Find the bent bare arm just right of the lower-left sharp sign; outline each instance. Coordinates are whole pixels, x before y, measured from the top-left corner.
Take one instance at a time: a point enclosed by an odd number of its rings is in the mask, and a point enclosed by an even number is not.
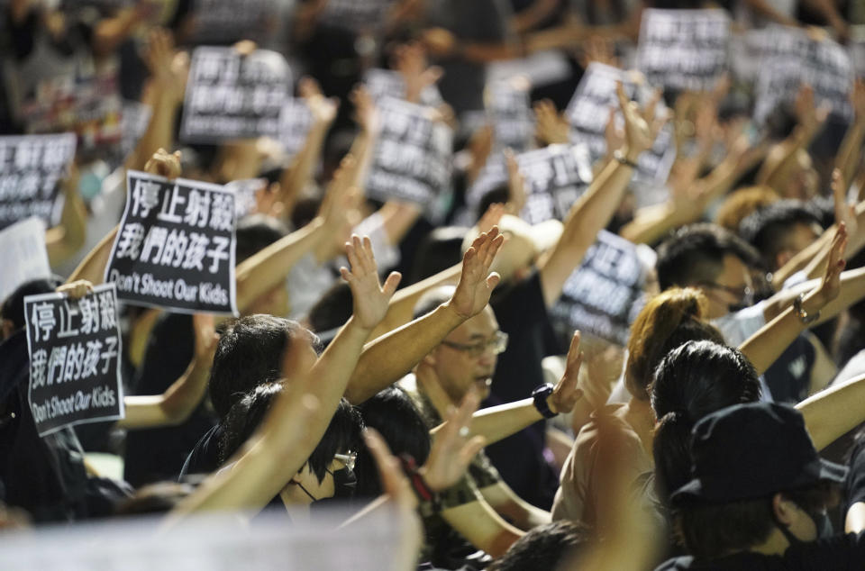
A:
[[[192,322],[196,334],[195,353],[187,370],[163,394],[124,396],[126,416],[117,422],[118,427],[143,429],[176,425],[186,421],[201,403],[207,391],[217,338],[213,315],[196,313]]]

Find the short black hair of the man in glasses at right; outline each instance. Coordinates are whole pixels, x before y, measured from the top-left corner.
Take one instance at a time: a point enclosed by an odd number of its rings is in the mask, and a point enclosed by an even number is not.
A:
[[[760,265],[757,250],[721,226],[704,222],[680,228],[658,246],[655,267],[661,291],[715,281],[727,255],[740,258],[747,266]]]

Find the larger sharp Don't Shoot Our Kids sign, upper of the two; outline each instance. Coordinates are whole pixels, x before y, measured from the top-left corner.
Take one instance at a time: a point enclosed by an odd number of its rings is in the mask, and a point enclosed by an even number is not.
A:
[[[105,281],[132,304],[236,315],[234,210],[223,186],[129,171]]]

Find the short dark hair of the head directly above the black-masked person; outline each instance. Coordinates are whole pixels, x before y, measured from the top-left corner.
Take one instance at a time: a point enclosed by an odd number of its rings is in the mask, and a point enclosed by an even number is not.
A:
[[[224,418],[243,394],[282,376],[282,357],[296,336],[308,334],[297,322],[273,315],[247,315],[230,322],[219,336],[210,369],[210,399]]]

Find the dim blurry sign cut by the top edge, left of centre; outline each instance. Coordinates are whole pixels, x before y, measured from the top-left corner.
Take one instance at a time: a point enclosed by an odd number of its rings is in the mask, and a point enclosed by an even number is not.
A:
[[[193,0],[193,44],[266,43],[277,30],[276,0]]]

